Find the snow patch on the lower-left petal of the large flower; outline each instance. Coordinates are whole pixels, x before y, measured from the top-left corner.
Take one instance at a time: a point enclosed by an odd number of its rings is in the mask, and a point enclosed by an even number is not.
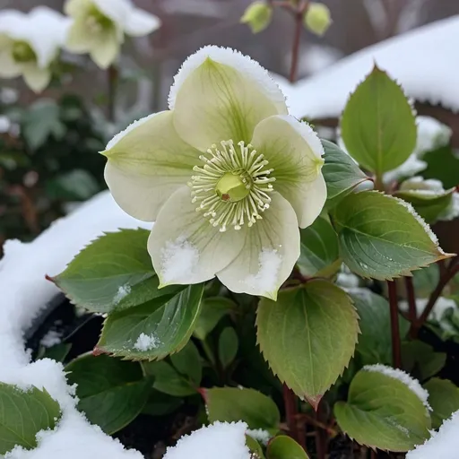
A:
[[[178,281],[189,275],[199,261],[199,251],[185,236],[169,240],[161,249],[161,281]]]

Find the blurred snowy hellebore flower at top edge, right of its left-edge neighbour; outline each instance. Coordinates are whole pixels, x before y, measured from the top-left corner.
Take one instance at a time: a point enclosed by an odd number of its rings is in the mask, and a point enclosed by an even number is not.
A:
[[[65,13],[72,19],[66,48],[90,53],[101,68],[117,59],[125,34],[143,37],[160,27],[160,20],[134,7],[130,0],[67,0]]]

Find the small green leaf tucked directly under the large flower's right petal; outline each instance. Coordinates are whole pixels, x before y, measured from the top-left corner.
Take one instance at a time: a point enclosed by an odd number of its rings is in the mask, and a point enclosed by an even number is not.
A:
[[[303,275],[326,277],[340,269],[338,237],[329,221],[319,217],[311,226],[300,230],[300,234],[298,265]]]

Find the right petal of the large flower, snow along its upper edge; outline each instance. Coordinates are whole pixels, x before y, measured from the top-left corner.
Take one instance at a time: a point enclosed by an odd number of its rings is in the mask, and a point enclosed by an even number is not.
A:
[[[299,227],[316,220],[326,200],[321,168],[324,147],[316,133],[296,118],[275,116],[255,127],[252,145],[273,169],[273,186],[297,213]]]

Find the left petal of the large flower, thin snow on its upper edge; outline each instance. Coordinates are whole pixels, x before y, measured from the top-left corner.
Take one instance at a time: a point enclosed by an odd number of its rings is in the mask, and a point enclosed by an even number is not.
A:
[[[129,215],[154,221],[160,207],[193,174],[199,152],[172,126],[172,113],[144,117],[107,145],[105,179],[117,204]]]

